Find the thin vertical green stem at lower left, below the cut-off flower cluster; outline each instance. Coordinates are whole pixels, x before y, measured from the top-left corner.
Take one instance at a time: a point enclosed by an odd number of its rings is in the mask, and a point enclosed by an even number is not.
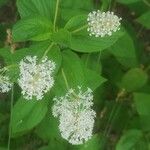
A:
[[[11,92],[10,122],[9,122],[9,136],[8,136],[8,148],[7,148],[8,150],[10,150],[13,101],[14,101],[14,85],[12,85],[12,92]]]

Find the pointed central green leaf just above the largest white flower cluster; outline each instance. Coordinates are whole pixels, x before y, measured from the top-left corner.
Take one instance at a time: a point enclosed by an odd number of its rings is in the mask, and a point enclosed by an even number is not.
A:
[[[56,81],[55,93],[64,94],[68,88],[91,88],[95,90],[106,81],[99,74],[85,68],[80,58],[70,50],[62,53],[62,68]]]

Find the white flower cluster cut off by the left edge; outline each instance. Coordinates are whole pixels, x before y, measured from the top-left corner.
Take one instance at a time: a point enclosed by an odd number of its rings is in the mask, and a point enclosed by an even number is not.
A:
[[[12,87],[9,77],[3,74],[5,71],[5,68],[0,69],[0,93],[8,92]]]

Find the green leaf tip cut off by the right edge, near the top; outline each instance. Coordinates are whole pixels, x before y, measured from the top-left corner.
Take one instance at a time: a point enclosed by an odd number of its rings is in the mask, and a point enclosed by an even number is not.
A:
[[[136,19],[137,22],[142,24],[147,29],[150,29],[150,11],[147,11],[146,13],[142,14],[139,18]]]

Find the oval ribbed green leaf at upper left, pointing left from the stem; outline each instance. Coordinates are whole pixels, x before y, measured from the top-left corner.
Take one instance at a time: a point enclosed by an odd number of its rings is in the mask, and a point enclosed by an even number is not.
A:
[[[20,41],[43,41],[50,39],[52,23],[41,16],[34,16],[18,21],[13,27],[13,40]]]

